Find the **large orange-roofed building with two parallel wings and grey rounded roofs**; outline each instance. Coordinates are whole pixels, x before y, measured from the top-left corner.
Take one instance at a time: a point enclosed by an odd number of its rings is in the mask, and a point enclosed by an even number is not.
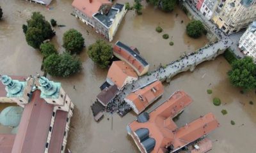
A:
[[[127,126],[127,132],[132,136],[142,153],[176,152],[192,142],[202,140],[205,135],[218,128],[219,123],[212,113],[178,128],[173,117],[178,115],[192,99],[183,91],[175,92],[162,105],[150,113],[144,112]],[[209,146],[209,141],[205,141]],[[198,146],[202,146],[200,144]],[[211,145],[210,145],[211,146]],[[199,148],[198,148],[199,149]],[[200,152],[206,152],[209,147]]]

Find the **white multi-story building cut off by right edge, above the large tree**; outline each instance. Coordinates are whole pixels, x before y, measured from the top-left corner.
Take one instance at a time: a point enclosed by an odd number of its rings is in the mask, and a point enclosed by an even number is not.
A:
[[[252,22],[239,40],[239,48],[256,61],[256,21]]]

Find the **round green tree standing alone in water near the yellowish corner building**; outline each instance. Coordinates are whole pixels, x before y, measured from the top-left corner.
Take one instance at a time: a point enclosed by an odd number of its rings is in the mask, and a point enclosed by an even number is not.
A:
[[[204,31],[204,25],[200,20],[193,20],[186,27],[186,33],[192,38],[199,38]]]

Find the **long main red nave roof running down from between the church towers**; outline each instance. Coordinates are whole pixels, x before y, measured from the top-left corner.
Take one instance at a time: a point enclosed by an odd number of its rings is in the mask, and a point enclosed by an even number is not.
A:
[[[40,98],[41,91],[33,92],[25,105],[12,153],[43,153],[51,124],[54,105]]]

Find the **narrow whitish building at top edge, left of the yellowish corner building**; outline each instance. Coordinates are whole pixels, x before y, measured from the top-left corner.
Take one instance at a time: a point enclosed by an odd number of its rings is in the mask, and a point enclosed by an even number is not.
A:
[[[216,10],[218,1],[216,0],[204,0],[200,11],[203,13],[207,20],[211,20],[213,12]]]

